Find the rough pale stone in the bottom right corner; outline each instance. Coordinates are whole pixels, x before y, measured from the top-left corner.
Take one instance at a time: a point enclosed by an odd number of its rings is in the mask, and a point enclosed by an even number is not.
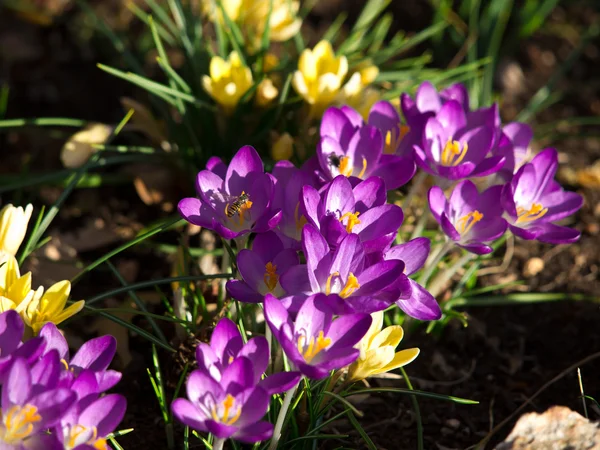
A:
[[[600,450],[600,425],[564,406],[519,419],[496,450]]]

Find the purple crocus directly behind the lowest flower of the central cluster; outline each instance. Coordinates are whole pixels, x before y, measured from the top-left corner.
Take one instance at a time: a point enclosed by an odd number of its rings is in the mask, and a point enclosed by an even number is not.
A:
[[[225,370],[240,357],[252,362],[254,385],[260,386],[270,395],[287,391],[300,380],[297,372],[279,372],[261,379],[270,359],[267,340],[263,336],[255,336],[244,344],[238,327],[228,318],[219,321],[210,344],[199,342],[196,347],[198,370],[207,373],[217,382],[221,382]]]

